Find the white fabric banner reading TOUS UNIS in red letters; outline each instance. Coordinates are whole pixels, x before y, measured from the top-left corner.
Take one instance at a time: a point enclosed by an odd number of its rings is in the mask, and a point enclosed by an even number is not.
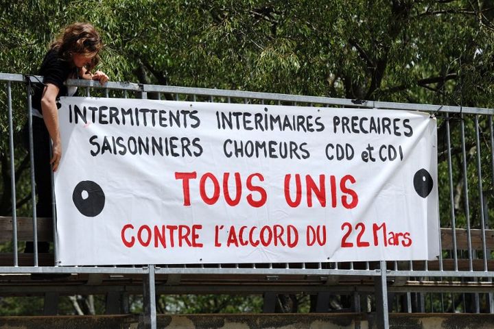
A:
[[[59,265],[425,260],[436,120],[62,97]]]

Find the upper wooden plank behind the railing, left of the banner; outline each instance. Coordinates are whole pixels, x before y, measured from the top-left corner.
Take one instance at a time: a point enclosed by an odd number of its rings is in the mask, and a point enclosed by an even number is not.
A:
[[[38,241],[53,241],[53,221],[51,218],[39,217]],[[12,217],[0,217],[0,243],[10,242],[13,237]],[[17,217],[17,241],[33,241],[31,217]]]

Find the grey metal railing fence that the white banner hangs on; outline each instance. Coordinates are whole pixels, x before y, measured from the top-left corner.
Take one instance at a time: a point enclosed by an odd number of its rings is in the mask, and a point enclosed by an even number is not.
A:
[[[150,98],[176,101],[209,101],[226,103],[262,103],[287,106],[319,106],[430,112],[438,119],[438,172],[440,191],[440,227],[442,253],[438,260],[421,262],[353,262],[353,263],[286,263],[286,264],[217,264],[217,265],[134,265],[132,267],[60,267],[42,266],[36,248],[38,219],[32,209],[32,234],[34,260],[30,266],[19,265],[19,241],[16,184],[14,173],[17,145],[14,144],[15,127],[25,119],[31,124],[31,91],[43,77],[0,73],[3,93],[0,94],[1,120],[8,123],[8,143],[3,134],[2,146],[9,159],[10,186],[12,191],[12,266],[0,266],[0,273],[106,273],[121,276],[140,275],[145,278],[143,293],[146,301],[147,321],[156,328],[154,304],[155,278],[166,275],[235,275],[263,276],[266,280],[283,281],[286,276],[305,278],[297,285],[277,287],[250,284],[242,289],[254,289],[259,293],[342,293],[353,296],[353,310],[370,310],[366,296],[375,293],[375,308],[383,328],[388,327],[388,311],[391,312],[473,312],[494,313],[493,276],[491,260],[494,249],[494,212],[489,204],[494,202],[494,132],[493,109],[461,106],[438,106],[384,101],[362,101],[252,93],[239,90],[217,90],[108,82],[104,88],[99,82],[69,80],[67,85],[78,86],[79,95],[93,97]],[[17,98],[12,96],[17,95]],[[19,98],[20,97],[20,98]],[[30,134],[32,136],[32,133]],[[30,141],[30,177],[32,194],[30,203],[36,204],[34,193],[34,169],[32,164],[32,137]],[[5,166],[5,162],[2,164]],[[5,171],[5,168],[2,168]],[[5,188],[8,182],[3,182]],[[5,214],[0,214],[5,215]],[[56,218],[53,219],[54,223]],[[56,226],[53,225],[54,234]],[[55,240],[56,241],[56,240]],[[54,245],[54,253],[57,246]],[[1,254],[1,253],[0,253]],[[320,283],[314,287],[311,281]],[[365,280],[369,279],[370,284]],[[305,280],[305,281],[304,281]],[[346,282],[346,284],[341,284]],[[338,284],[340,283],[340,284]],[[177,284],[180,286],[180,284]],[[195,286],[195,289],[198,289]],[[292,287],[292,288],[290,288]],[[331,287],[331,289],[329,289]],[[215,289],[209,289],[214,291]],[[193,289],[180,292],[194,293]],[[228,293],[226,288],[219,290]],[[159,291],[158,291],[159,293]]]

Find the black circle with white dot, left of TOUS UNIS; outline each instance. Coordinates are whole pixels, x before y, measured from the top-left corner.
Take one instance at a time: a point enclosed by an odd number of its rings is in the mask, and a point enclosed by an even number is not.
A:
[[[101,186],[91,180],[83,180],[75,186],[72,201],[82,215],[95,217],[103,211],[105,195]]]

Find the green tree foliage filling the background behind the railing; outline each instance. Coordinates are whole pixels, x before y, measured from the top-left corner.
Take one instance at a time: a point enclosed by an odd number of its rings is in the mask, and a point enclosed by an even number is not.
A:
[[[99,69],[116,81],[494,108],[491,0],[0,0],[0,72],[36,74],[50,42],[74,21],[89,21],[102,33]],[[21,145],[25,88],[14,86],[13,93]],[[1,88],[3,109],[5,102]],[[2,136],[8,136],[6,112],[0,111]],[[472,117],[460,119],[438,119],[441,221],[448,226],[453,219],[449,151],[456,225],[467,222],[467,177],[470,221],[478,228],[475,125]],[[489,124],[480,118],[484,177],[493,175]],[[23,206],[30,186],[19,146],[16,158]],[[8,140],[1,138],[0,215],[11,212],[8,161]],[[493,180],[482,183],[493,204]]]

